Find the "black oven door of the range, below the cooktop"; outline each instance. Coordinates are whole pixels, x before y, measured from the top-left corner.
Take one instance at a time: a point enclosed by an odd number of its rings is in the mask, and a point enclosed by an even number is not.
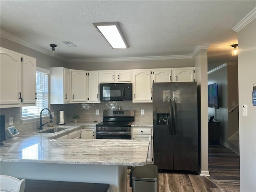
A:
[[[132,139],[130,131],[117,132],[117,131],[96,131],[96,139]]]

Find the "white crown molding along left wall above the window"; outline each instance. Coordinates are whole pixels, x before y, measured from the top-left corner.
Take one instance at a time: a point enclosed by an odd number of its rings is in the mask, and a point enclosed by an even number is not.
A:
[[[24,41],[24,40],[22,40],[22,39],[20,39],[20,38],[18,38],[18,37],[16,37],[16,36],[12,35],[12,34],[9,34],[9,33],[7,33],[7,32],[4,32],[4,31],[2,31],[2,30],[0,30],[0,36],[1,36],[2,38],[8,39],[8,40],[10,40],[10,41],[12,41],[12,42],[18,43],[18,44],[20,44],[20,45],[26,46],[26,47],[28,47],[28,48],[31,48],[31,49],[33,49],[33,50],[36,50],[36,51],[38,51],[38,52],[41,52],[41,53],[43,53],[43,54],[46,54],[46,55],[51,56],[51,55],[50,55],[50,50],[46,50],[46,49],[44,49],[44,48],[42,48],[42,47],[39,47],[39,46],[37,46],[37,45],[34,45],[34,44],[32,44],[32,43],[26,42],[26,41]],[[68,62],[68,59],[63,58],[62,56],[58,56],[58,55],[57,55],[57,56],[54,56],[54,58],[56,58],[56,59],[58,59],[58,60],[62,60],[62,61],[64,61],[64,62]]]

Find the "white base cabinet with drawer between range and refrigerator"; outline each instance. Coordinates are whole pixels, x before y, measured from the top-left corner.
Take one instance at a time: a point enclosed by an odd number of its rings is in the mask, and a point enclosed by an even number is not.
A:
[[[146,140],[149,141],[148,148],[148,159],[147,162],[153,163],[153,136],[152,136],[152,128],[132,128],[132,139],[134,140]]]

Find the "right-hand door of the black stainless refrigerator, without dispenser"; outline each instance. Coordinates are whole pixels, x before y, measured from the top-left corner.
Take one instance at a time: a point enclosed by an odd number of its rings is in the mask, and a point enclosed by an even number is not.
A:
[[[172,83],[174,170],[198,171],[197,83]]]

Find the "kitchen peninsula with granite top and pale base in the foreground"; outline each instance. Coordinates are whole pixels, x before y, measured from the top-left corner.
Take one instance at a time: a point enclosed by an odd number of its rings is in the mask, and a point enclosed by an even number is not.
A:
[[[30,135],[0,147],[1,174],[23,179],[110,184],[110,192],[127,190],[127,166],[143,166],[148,141],[58,140]]]

